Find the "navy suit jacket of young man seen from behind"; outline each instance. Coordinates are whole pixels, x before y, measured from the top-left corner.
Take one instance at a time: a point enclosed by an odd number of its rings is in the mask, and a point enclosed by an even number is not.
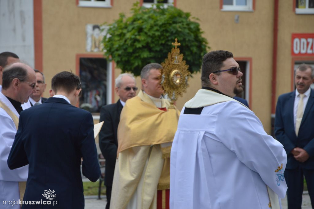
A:
[[[22,208],[84,208],[81,158],[84,176],[92,182],[100,176],[93,129],[88,111],[61,98],[51,97],[21,112],[8,166],[29,164],[24,201],[48,201],[42,195],[45,189],[54,190],[58,200],[57,207],[24,204]]]

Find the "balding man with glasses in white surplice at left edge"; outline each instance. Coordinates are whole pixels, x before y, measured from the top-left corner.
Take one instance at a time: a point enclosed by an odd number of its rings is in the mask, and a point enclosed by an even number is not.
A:
[[[35,93],[35,83],[35,71],[23,63],[14,63],[3,71],[0,93],[0,204],[23,198],[28,166],[10,170],[7,160],[18,129],[21,104]],[[6,206],[0,206],[3,207]],[[9,207],[20,208],[19,205]]]

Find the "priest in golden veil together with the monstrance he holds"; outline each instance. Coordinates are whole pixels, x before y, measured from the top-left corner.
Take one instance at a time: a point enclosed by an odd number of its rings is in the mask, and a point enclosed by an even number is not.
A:
[[[165,63],[143,67],[143,89],[122,109],[112,209],[169,208],[170,151],[179,118],[173,102],[185,91],[189,78],[179,43],[173,45]],[[171,102],[163,98],[164,93]]]

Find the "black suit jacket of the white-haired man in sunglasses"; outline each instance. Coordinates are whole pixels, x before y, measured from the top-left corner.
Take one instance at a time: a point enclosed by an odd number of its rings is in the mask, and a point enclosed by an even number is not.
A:
[[[106,159],[105,185],[112,186],[118,148],[117,130],[123,106],[120,99],[115,104],[100,109],[100,122],[104,121],[99,133],[99,147]]]

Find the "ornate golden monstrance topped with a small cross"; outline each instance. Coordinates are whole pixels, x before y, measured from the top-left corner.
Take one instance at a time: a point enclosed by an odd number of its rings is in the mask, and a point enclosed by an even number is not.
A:
[[[164,88],[165,93],[168,94],[170,98],[169,108],[174,108],[173,103],[182,96],[183,93],[187,92],[187,87],[189,87],[188,81],[190,79],[190,71],[188,71],[189,66],[186,65],[185,60],[183,60],[183,54],[180,54],[181,43],[178,43],[178,39],[172,43],[175,48],[171,49],[171,53],[168,53],[168,58],[165,62],[161,63],[163,69],[161,70],[161,86]]]

